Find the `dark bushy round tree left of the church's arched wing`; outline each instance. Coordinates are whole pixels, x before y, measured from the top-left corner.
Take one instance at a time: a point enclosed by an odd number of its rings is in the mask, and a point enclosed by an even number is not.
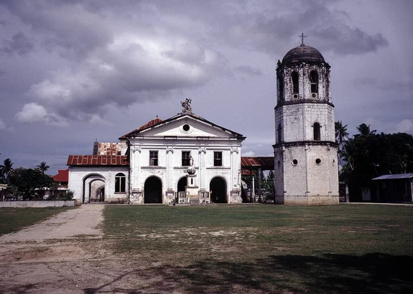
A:
[[[54,185],[52,176],[43,174],[40,169],[25,169],[24,167],[11,171],[9,182],[12,193],[23,200],[33,200],[39,191]]]

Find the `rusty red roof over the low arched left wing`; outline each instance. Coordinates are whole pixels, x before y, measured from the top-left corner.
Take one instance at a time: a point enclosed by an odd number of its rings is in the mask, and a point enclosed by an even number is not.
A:
[[[67,158],[67,165],[124,166],[129,165],[129,160],[125,155],[70,155]]]

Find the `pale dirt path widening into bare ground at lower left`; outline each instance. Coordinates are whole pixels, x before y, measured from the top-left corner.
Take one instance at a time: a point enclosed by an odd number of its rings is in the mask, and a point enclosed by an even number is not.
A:
[[[117,293],[114,287],[127,289],[129,267],[103,245],[99,229],[103,208],[82,205],[1,236],[0,293]]]

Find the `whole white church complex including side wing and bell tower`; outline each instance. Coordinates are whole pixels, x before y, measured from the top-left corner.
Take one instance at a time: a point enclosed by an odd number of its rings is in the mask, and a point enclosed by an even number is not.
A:
[[[93,155],[69,156],[68,189],[74,198],[81,203],[240,203],[242,168],[251,175],[256,168],[261,175],[273,162],[276,204],[339,203],[330,65],[304,45],[304,34],[301,45],[277,63],[273,158],[242,161],[244,136],[193,114],[191,99],[181,104],[180,114],[156,117],[118,143],[96,142]]]

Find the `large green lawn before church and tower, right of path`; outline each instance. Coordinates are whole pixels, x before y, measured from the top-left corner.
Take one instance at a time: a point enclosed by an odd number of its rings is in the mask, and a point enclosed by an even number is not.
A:
[[[103,229],[182,292],[413,292],[413,207],[107,206]]]

